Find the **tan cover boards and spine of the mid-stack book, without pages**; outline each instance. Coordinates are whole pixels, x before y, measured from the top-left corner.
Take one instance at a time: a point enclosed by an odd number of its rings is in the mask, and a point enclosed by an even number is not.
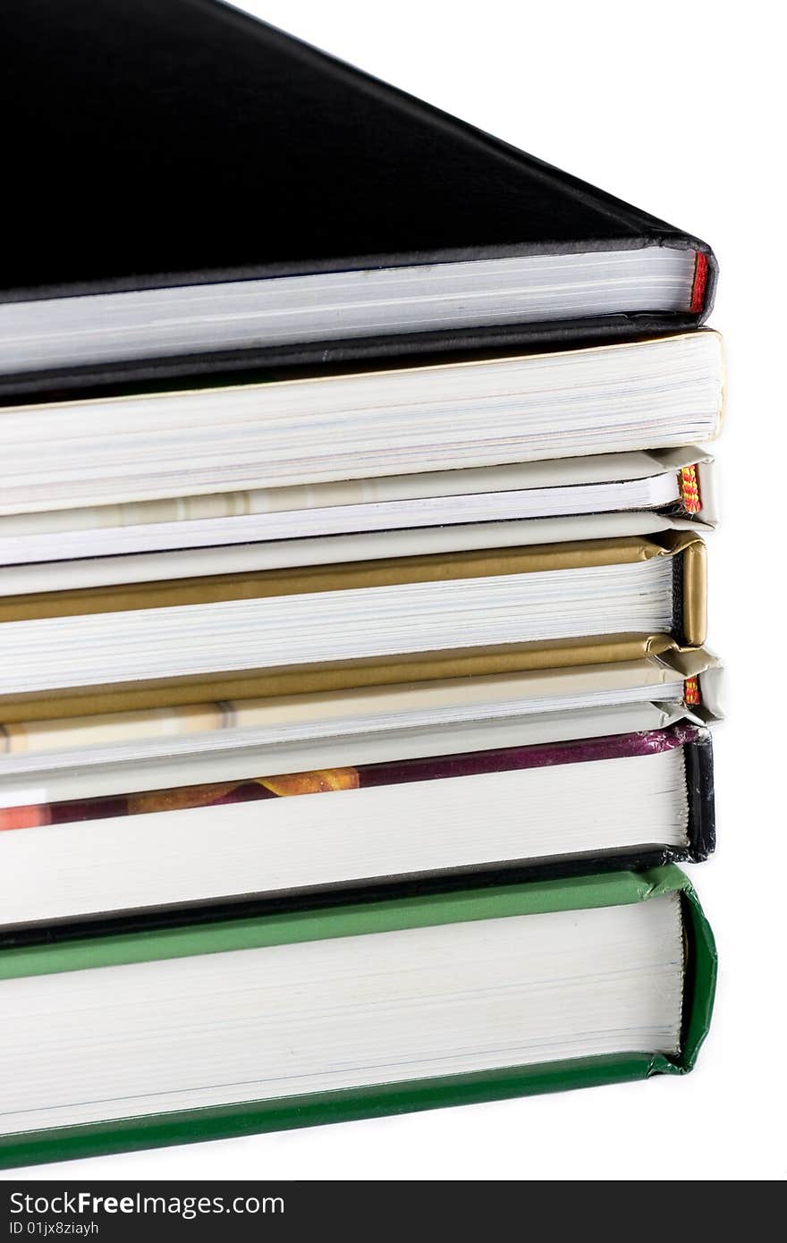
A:
[[[351,686],[384,686],[397,682],[446,677],[486,676],[530,669],[569,667],[637,660],[654,645],[678,643],[695,648],[705,641],[705,546],[689,532],[665,532],[658,538],[620,538],[583,543],[542,544],[533,548],[453,553],[445,557],[392,558],[356,562],[341,567],[283,569],[259,574],[216,576],[139,587],[24,595],[0,602],[1,623],[52,617],[80,617],[149,608],[188,607],[220,600],[296,595],[311,592],[374,588],[413,582],[455,580],[486,576],[617,566],[654,557],[675,557],[680,576],[676,633],[671,635],[617,634],[593,638],[530,641],[504,646],[415,653],[307,666],[278,666],[242,672],[159,679],[155,681],[91,686],[81,691],[61,689],[4,697],[5,723],[173,707],[208,701],[272,697],[343,690]]]

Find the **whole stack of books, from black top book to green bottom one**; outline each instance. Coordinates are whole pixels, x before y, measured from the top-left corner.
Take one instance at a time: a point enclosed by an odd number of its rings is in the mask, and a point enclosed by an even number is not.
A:
[[[81,12],[22,10],[1,87],[51,106],[0,305],[0,1158],[690,1069],[711,251],[221,5]]]

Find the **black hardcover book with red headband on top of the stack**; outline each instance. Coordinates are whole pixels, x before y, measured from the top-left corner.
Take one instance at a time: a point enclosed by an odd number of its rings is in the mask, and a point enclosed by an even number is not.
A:
[[[696,237],[229,6],[117,0],[107,22],[82,0],[47,35],[11,4],[6,392],[707,314]],[[52,185],[70,194],[42,231]],[[96,229],[98,205],[133,226]]]

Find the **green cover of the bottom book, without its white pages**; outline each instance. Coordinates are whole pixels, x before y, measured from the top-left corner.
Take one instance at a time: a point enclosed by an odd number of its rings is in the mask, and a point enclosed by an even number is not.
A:
[[[633,1052],[9,1135],[0,1139],[0,1168],[684,1074],[694,1065],[710,1025],[716,950],[691,883],[670,865],[0,952],[0,979],[10,979],[506,915],[623,906],[669,892],[683,895],[686,930],[683,1040],[676,1058]]]

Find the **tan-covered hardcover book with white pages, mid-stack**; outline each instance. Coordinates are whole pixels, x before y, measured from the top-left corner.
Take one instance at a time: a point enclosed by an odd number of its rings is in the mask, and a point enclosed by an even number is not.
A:
[[[0,712],[235,699],[239,675],[249,697],[637,659],[655,636],[701,645],[705,608],[690,532],[16,595]]]

